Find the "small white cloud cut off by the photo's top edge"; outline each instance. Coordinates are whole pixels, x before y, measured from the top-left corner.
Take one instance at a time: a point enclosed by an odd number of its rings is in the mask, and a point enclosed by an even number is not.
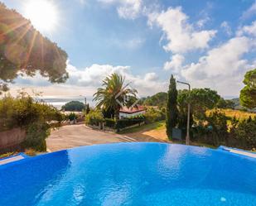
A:
[[[105,4],[117,4],[119,17],[135,19],[142,12],[142,0],[98,0]]]

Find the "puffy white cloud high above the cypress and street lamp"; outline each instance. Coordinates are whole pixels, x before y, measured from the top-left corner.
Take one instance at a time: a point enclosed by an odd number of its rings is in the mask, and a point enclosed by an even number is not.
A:
[[[148,24],[157,23],[167,39],[163,48],[172,53],[186,53],[191,50],[208,48],[209,41],[215,36],[215,30],[197,31],[189,24],[189,17],[181,11],[181,7],[168,8],[161,13],[148,15]]]

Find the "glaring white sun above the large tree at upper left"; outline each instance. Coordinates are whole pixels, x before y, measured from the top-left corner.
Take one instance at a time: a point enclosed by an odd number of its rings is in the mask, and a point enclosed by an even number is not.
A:
[[[39,31],[53,31],[58,22],[56,6],[50,0],[29,0],[24,5],[24,16]]]

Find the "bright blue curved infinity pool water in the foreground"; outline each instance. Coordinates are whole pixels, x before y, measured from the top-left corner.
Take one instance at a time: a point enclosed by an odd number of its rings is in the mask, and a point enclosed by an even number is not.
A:
[[[0,166],[0,205],[256,205],[256,159],[196,146],[84,146]]]

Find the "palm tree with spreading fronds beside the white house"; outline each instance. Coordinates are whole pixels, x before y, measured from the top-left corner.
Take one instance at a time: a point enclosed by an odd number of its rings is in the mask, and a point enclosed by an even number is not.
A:
[[[131,106],[131,99],[136,98],[136,89],[128,88],[124,85],[125,78],[117,73],[111,74],[103,80],[102,88],[94,93],[94,100],[97,108],[105,110],[114,109],[114,117],[119,118],[119,110],[124,106]]]

